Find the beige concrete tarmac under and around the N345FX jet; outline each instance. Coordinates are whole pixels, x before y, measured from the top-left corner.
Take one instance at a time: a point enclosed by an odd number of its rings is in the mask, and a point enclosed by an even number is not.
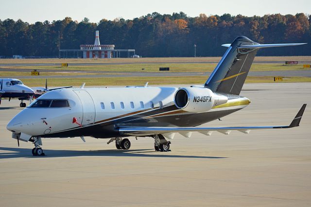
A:
[[[311,83],[245,84],[246,108],[204,126],[289,124],[307,104],[299,127],[176,135],[172,152],[152,138],[130,138],[128,151],[108,139],[11,138],[6,124],[18,100],[0,105],[0,206],[311,206]],[[104,132],[103,132],[104,133]]]

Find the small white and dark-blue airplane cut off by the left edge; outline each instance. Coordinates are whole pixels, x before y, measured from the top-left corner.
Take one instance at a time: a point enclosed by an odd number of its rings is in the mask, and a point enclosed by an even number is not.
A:
[[[57,87],[57,88],[48,88],[48,81],[45,80],[45,88],[44,87],[33,87],[30,88],[26,85],[24,85],[20,80],[13,79],[13,78],[3,78],[0,79],[0,104],[1,104],[1,98],[9,98],[9,101],[11,98],[18,98],[18,100],[21,100],[21,103],[19,104],[20,107],[26,107],[26,103],[24,103],[24,100],[30,101],[32,103],[32,100],[34,98],[37,98],[41,96],[42,94],[49,92],[51,90],[56,90],[60,88],[69,88],[72,86],[64,86],[64,87]]]

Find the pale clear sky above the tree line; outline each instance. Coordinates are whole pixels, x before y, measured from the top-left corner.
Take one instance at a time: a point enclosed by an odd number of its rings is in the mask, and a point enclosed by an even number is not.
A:
[[[184,12],[190,17],[209,15],[263,16],[305,13],[311,15],[311,0],[0,0],[0,19],[21,19],[28,23],[62,20],[71,17],[80,22],[105,18],[133,19],[153,12],[173,14]]]

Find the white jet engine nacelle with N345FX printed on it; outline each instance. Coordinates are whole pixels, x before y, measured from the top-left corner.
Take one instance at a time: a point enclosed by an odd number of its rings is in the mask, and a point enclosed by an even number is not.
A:
[[[206,112],[213,106],[225,104],[228,97],[213,93],[205,87],[179,88],[174,96],[177,108],[187,112]]]

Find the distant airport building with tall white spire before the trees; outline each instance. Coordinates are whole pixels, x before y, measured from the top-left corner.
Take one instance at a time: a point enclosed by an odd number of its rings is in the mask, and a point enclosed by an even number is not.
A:
[[[118,58],[133,55],[134,49],[116,50],[115,45],[101,45],[99,31],[95,32],[94,45],[80,45],[80,50],[59,50],[60,58]]]

